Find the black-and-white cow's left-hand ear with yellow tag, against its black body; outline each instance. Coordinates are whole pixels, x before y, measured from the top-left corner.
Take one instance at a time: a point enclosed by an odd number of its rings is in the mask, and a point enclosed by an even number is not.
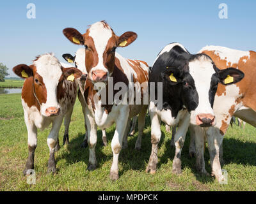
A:
[[[161,78],[164,82],[168,82],[170,85],[177,85],[183,81],[182,73],[178,68],[166,67],[161,73]]]

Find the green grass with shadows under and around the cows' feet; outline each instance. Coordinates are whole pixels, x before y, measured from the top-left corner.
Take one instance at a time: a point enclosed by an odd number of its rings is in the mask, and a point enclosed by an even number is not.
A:
[[[35,152],[36,184],[26,183],[22,175],[28,156],[27,131],[24,124],[20,94],[0,96],[0,190],[1,191],[255,191],[256,190],[256,135],[255,128],[246,124],[244,129],[229,128],[223,140],[223,168],[228,171],[228,184],[220,185],[214,178],[199,175],[195,158],[188,156],[189,135],[182,150],[182,174],[172,174],[174,150],[170,147],[170,134],[161,129],[159,164],[156,175],[145,173],[150,156],[150,120],[144,129],[142,149],[134,150],[138,133],[128,138],[128,149],[119,157],[120,179],[112,182],[109,170],[112,162],[111,138],[114,127],[107,129],[108,146],[102,147],[98,131],[98,168],[86,170],[89,150],[81,149],[83,141],[83,113],[77,99],[70,123],[70,145],[63,147],[64,127],[60,130],[61,149],[56,152],[56,175],[47,175],[49,149],[47,135],[38,131]],[[205,168],[211,172],[209,153],[205,150]]]

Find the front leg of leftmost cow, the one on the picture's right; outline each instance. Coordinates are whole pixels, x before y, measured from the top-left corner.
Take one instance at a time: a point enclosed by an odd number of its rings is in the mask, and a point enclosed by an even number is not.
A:
[[[56,163],[55,163],[54,152],[55,152],[56,143],[58,141],[58,133],[60,131],[62,121],[63,121],[63,117],[59,117],[53,120],[52,129],[47,138],[47,145],[50,150],[47,173],[56,173]]]

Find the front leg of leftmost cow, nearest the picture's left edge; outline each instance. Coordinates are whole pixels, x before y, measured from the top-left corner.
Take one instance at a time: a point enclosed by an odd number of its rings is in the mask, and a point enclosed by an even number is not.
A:
[[[34,123],[29,122],[28,115],[24,114],[26,127],[28,130],[28,159],[23,174],[26,175],[27,171],[34,169],[35,149],[37,146],[37,128]]]

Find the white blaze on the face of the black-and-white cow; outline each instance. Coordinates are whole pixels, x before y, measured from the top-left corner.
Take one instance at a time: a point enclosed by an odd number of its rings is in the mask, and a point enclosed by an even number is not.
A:
[[[191,111],[191,123],[196,124],[198,114],[211,114],[214,112],[209,101],[209,90],[211,87],[212,75],[215,71],[212,61],[205,56],[189,62],[189,73],[195,81],[196,91],[198,93],[198,106]]]

